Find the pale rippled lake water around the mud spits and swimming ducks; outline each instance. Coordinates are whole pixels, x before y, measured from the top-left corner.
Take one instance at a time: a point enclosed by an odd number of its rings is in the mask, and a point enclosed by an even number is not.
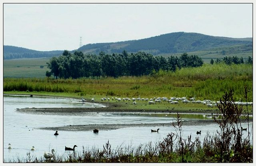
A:
[[[148,144],[149,141],[159,142],[166,138],[168,133],[175,132],[171,125],[152,127],[129,127],[117,130],[100,131],[98,134],[92,131],[60,131],[54,136],[55,130],[40,130],[37,128],[54,127],[78,124],[120,124],[120,123],[169,123],[175,119],[174,114],[120,114],[102,113],[88,114],[86,116],[57,116],[57,115],[34,115],[20,113],[17,108],[48,108],[48,107],[102,107],[97,103],[82,103],[80,100],[70,98],[55,98],[41,96],[4,95],[4,126],[3,126],[3,159],[4,162],[12,162],[17,158],[24,159],[27,153],[34,157],[43,157],[44,151],[55,149],[56,154],[62,156],[70,152],[65,151],[65,146],[73,148],[76,144],[76,151],[82,152],[85,149],[102,148],[106,142],[110,142],[112,148],[117,146],[136,147],[140,144]],[[211,118],[210,115],[182,116],[183,120]],[[244,128],[247,124],[242,125]],[[160,128],[158,133],[150,129]],[[252,128],[252,123],[250,124]],[[192,138],[199,137],[201,141],[209,132],[216,133],[218,125],[207,126],[182,126],[183,138],[191,134]],[[197,135],[196,131],[202,131]],[[8,144],[12,149],[7,149]],[[30,148],[35,146],[34,151]]]

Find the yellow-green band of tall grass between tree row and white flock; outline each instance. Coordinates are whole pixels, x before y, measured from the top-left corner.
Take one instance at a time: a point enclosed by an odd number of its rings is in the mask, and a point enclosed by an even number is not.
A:
[[[4,91],[66,92],[77,96],[103,95],[120,97],[176,96],[194,97],[197,100],[218,101],[227,89],[234,91],[234,98],[242,98],[242,87],[252,88],[250,64],[204,64],[198,68],[159,70],[149,76],[122,76],[98,79],[53,78],[4,78]],[[252,91],[248,93],[252,101]]]

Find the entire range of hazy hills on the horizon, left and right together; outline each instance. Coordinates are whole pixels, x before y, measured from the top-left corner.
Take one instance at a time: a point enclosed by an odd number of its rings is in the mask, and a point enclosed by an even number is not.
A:
[[[198,33],[174,32],[140,40],[87,44],[78,48],[78,51],[90,54],[99,54],[103,51],[112,54],[126,50],[128,53],[144,51],[153,55],[160,55],[208,51],[218,48],[230,50],[230,52],[238,51],[237,53],[252,52],[252,38],[227,38]],[[52,57],[62,53],[63,50],[36,51],[15,46],[4,46],[4,59]]]

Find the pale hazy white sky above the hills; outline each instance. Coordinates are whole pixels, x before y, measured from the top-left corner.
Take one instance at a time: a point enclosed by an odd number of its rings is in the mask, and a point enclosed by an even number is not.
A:
[[[4,45],[74,50],[172,32],[252,37],[252,4],[4,4]]]

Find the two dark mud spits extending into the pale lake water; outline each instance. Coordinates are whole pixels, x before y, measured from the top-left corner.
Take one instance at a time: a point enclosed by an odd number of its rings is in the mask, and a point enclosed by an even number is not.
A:
[[[21,113],[29,114],[49,114],[49,115],[72,115],[72,116],[87,116],[90,114],[103,114],[103,113],[141,113],[141,114],[218,114],[216,110],[134,110],[134,109],[123,109],[116,104],[108,104],[107,107],[101,108],[22,108],[17,111]],[[252,120],[250,120],[252,122]],[[205,126],[217,124],[214,119],[207,120],[184,120],[182,121],[183,126]],[[87,125],[67,125],[58,127],[44,127],[37,128],[40,130],[60,130],[60,131],[92,131],[97,128],[99,130],[116,130],[119,128],[128,127],[156,127],[156,126],[170,126],[172,123],[141,123],[141,124],[87,124]]]

